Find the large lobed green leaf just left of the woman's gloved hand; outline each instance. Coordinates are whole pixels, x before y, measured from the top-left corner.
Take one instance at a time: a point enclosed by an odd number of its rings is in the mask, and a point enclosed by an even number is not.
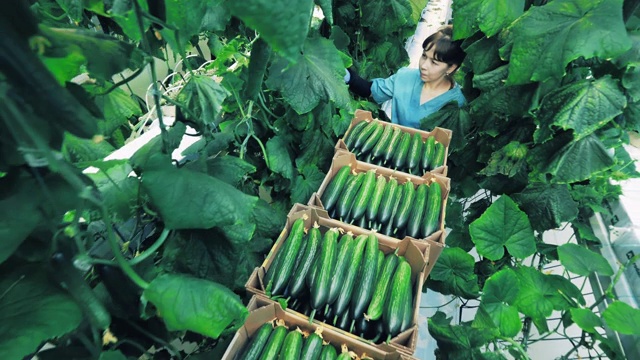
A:
[[[333,42],[323,38],[307,39],[295,64],[276,58],[269,69],[267,86],[280,91],[298,114],[311,111],[320,102],[331,100],[345,107],[350,101],[342,58]]]

